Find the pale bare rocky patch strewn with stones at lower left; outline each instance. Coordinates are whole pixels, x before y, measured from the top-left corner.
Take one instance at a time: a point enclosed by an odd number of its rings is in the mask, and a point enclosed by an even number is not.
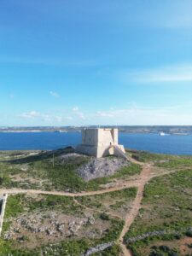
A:
[[[47,241],[54,243],[63,241],[72,236],[98,238],[110,227],[110,223],[103,224],[102,219],[93,216],[92,212],[85,212],[82,216],[54,211],[32,212],[32,214],[20,214],[19,217],[11,220],[12,224],[3,233],[3,238],[6,241],[23,243],[25,248],[42,246],[47,244]]]

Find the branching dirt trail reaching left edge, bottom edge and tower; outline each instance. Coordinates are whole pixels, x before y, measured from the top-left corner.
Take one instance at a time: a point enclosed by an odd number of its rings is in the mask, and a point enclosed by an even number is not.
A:
[[[130,229],[131,224],[133,223],[134,219],[137,217],[138,211],[141,208],[141,203],[143,200],[143,191],[144,186],[148,182],[148,180],[152,177],[156,177],[158,175],[151,175],[151,166],[150,164],[143,164],[141,162],[138,162],[137,160],[134,160],[132,158],[128,158],[132,163],[136,163],[140,166],[143,166],[143,170],[140,173],[139,177],[134,180],[125,181],[122,183],[118,183],[117,185],[107,188],[107,189],[101,189],[97,191],[88,191],[88,192],[80,192],[80,193],[70,193],[70,192],[63,192],[63,191],[44,191],[44,190],[36,190],[36,189],[0,189],[0,195],[1,194],[32,194],[32,195],[63,195],[63,196],[70,196],[73,197],[75,200],[75,197],[78,196],[85,196],[85,195],[100,195],[103,193],[118,191],[121,189],[131,188],[131,187],[137,187],[137,196],[135,200],[132,203],[131,211],[127,213],[125,216],[125,225],[123,230],[121,231],[121,234],[119,236],[119,244],[122,247],[123,253],[125,256],[132,256],[131,251],[126,248],[124,243],[124,236],[126,232]],[[163,174],[161,174],[163,175]]]

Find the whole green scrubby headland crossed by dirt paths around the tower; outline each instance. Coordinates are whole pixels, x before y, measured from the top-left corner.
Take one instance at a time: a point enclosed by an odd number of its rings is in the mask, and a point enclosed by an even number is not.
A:
[[[94,159],[73,148],[2,151],[2,255],[191,255],[192,157],[126,154],[88,181]]]

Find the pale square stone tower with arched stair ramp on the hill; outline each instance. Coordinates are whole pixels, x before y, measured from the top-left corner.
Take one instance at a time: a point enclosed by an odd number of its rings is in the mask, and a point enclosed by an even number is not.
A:
[[[126,159],[124,146],[118,144],[118,129],[116,128],[84,128],[82,143],[77,146],[76,152],[97,158],[116,155]]]

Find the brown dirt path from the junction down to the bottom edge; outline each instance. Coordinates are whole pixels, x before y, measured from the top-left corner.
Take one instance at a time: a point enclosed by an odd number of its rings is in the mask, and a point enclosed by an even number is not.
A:
[[[127,214],[127,216],[125,217],[125,225],[124,225],[124,228],[119,236],[119,243],[123,249],[123,253],[125,256],[131,256],[132,254],[131,254],[130,250],[128,250],[125,246],[124,236],[125,236],[126,232],[130,229],[131,224],[133,223],[134,219],[137,217],[139,209],[141,208],[141,203],[143,200],[144,186],[145,186],[145,183],[147,183],[150,178],[149,177],[150,169],[151,169],[150,165],[143,166],[143,172],[140,175],[141,183],[138,186],[137,196],[136,196],[135,200],[133,201],[133,204],[131,207],[131,212],[129,212]]]

